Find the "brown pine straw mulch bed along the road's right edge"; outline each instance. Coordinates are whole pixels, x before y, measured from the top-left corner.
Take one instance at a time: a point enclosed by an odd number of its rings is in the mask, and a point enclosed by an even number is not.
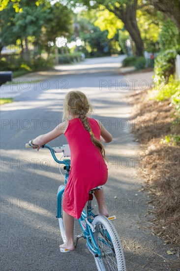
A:
[[[180,135],[179,125],[173,124],[178,113],[169,101],[149,101],[147,90],[134,92],[129,103],[133,104],[132,133],[141,144],[139,156],[148,164],[139,173],[154,206],[151,232],[180,246],[180,146],[160,143],[165,135]]]

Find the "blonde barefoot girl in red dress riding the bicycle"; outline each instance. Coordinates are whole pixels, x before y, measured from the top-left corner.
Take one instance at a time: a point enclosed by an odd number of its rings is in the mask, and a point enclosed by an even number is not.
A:
[[[70,91],[66,94],[63,103],[63,119],[67,121],[60,123],[53,131],[30,140],[33,147],[39,150],[40,145],[64,134],[70,147],[71,169],[62,203],[67,240],[60,245],[62,252],[75,249],[74,218],[80,218],[89,198],[89,190],[104,185],[108,178],[105,150],[100,140],[109,143],[112,141],[112,135],[100,121],[87,117],[91,111],[91,105],[84,93]],[[108,217],[104,191],[97,190],[94,196],[98,203],[99,213]]]

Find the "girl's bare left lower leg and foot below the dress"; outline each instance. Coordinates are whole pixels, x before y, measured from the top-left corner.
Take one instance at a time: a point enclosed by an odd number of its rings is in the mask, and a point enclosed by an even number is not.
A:
[[[74,229],[74,217],[63,211],[63,223],[65,229],[66,242],[60,247],[68,250],[74,250],[73,229]]]

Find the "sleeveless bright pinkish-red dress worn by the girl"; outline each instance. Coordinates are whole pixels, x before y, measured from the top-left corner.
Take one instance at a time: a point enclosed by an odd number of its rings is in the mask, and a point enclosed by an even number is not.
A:
[[[100,127],[96,120],[88,118],[94,136],[100,140]],[[108,179],[108,168],[100,149],[92,143],[90,133],[81,119],[69,120],[64,133],[71,151],[71,169],[64,190],[62,208],[79,219],[88,198],[89,190],[103,185]]]

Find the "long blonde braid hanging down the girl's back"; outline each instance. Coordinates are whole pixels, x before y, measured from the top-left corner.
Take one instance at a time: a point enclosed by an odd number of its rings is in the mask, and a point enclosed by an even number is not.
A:
[[[79,114],[79,118],[82,120],[83,126],[84,128],[90,133],[90,139],[92,141],[92,143],[96,146],[100,148],[100,152],[102,157],[105,159],[105,161],[107,162],[107,157],[105,155],[105,149],[103,144],[97,139],[95,138],[94,134],[92,133],[92,130],[90,128],[90,123],[86,117],[86,113],[84,110],[81,110],[80,114]]]

